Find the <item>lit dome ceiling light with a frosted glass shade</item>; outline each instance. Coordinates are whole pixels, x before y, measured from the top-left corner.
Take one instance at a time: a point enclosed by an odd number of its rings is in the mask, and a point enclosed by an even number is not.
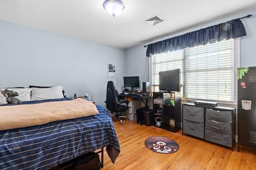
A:
[[[105,0],[103,2],[103,7],[108,14],[115,18],[115,16],[118,16],[122,10],[124,10],[124,2],[121,0]]]

